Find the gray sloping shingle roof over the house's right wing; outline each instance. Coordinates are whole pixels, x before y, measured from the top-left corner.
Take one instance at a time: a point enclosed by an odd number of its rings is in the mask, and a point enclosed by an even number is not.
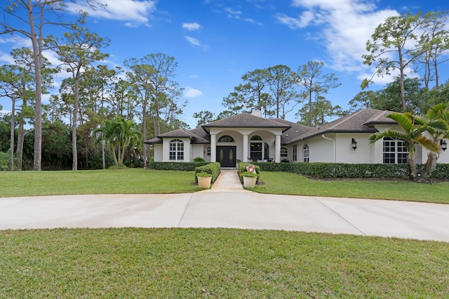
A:
[[[319,128],[312,128],[307,133],[289,140],[287,143],[297,142],[325,133],[375,133],[377,132],[377,128],[373,126],[375,124],[396,124],[396,121],[386,117],[390,113],[392,112],[369,108],[361,109],[341,119],[323,124]]]

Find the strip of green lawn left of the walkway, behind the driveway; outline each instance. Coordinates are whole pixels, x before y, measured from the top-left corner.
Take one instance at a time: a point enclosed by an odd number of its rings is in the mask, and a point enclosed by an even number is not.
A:
[[[97,171],[0,171],[0,197],[72,194],[188,193],[198,191],[193,171],[142,168]]]

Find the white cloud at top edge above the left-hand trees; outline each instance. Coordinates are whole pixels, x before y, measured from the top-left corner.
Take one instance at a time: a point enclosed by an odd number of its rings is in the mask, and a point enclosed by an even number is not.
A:
[[[148,15],[156,11],[156,1],[137,0],[103,0],[107,6],[93,10],[86,1],[76,0],[67,3],[67,10],[72,12],[86,11],[89,15],[111,20],[128,21],[126,25],[133,27],[136,24],[147,24]]]

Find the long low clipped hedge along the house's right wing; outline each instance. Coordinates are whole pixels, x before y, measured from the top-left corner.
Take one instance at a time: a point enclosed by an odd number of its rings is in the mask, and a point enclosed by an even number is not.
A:
[[[253,163],[262,171],[285,171],[312,178],[408,178],[407,164]],[[424,164],[417,166],[422,173]],[[431,178],[449,179],[449,164],[437,164]]]

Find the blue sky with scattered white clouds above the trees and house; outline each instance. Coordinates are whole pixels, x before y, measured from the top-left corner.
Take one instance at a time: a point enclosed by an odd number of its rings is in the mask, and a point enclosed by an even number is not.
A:
[[[86,8],[84,1],[67,1],[67,17],[79,8],[89,12],[87,27],[111,40],[104,50],[110,54],[105,62],[109,67],[150,53],[173,56],[178,63],[175,81],[185,88],[188,101],[182,121],[192,128],[194,112],[218,114],[225,109],[222,98],[242,83],[246,72],[274,65],[297,70],[310,60],[323,61],[323,72],[335,73],[342,85],[326,98],[347,109],[361,91],[361,81],[373,74],[361,55],[378,24],[408,11],[449,8],[440,0],[102,1],[107,8],[97,11]],[[46,29],[52,33],[51,27]],[[29,46],[29,41],[0,36],[0,64],[11,63],[9,53],[20,46]],[[52,53],[44,55],[58,63]],[[371,88],[381,88],[390,80],[377,79]],[[0,99],[4,111],[9,102]],[[286,119],[297,121],[295,112]]]

